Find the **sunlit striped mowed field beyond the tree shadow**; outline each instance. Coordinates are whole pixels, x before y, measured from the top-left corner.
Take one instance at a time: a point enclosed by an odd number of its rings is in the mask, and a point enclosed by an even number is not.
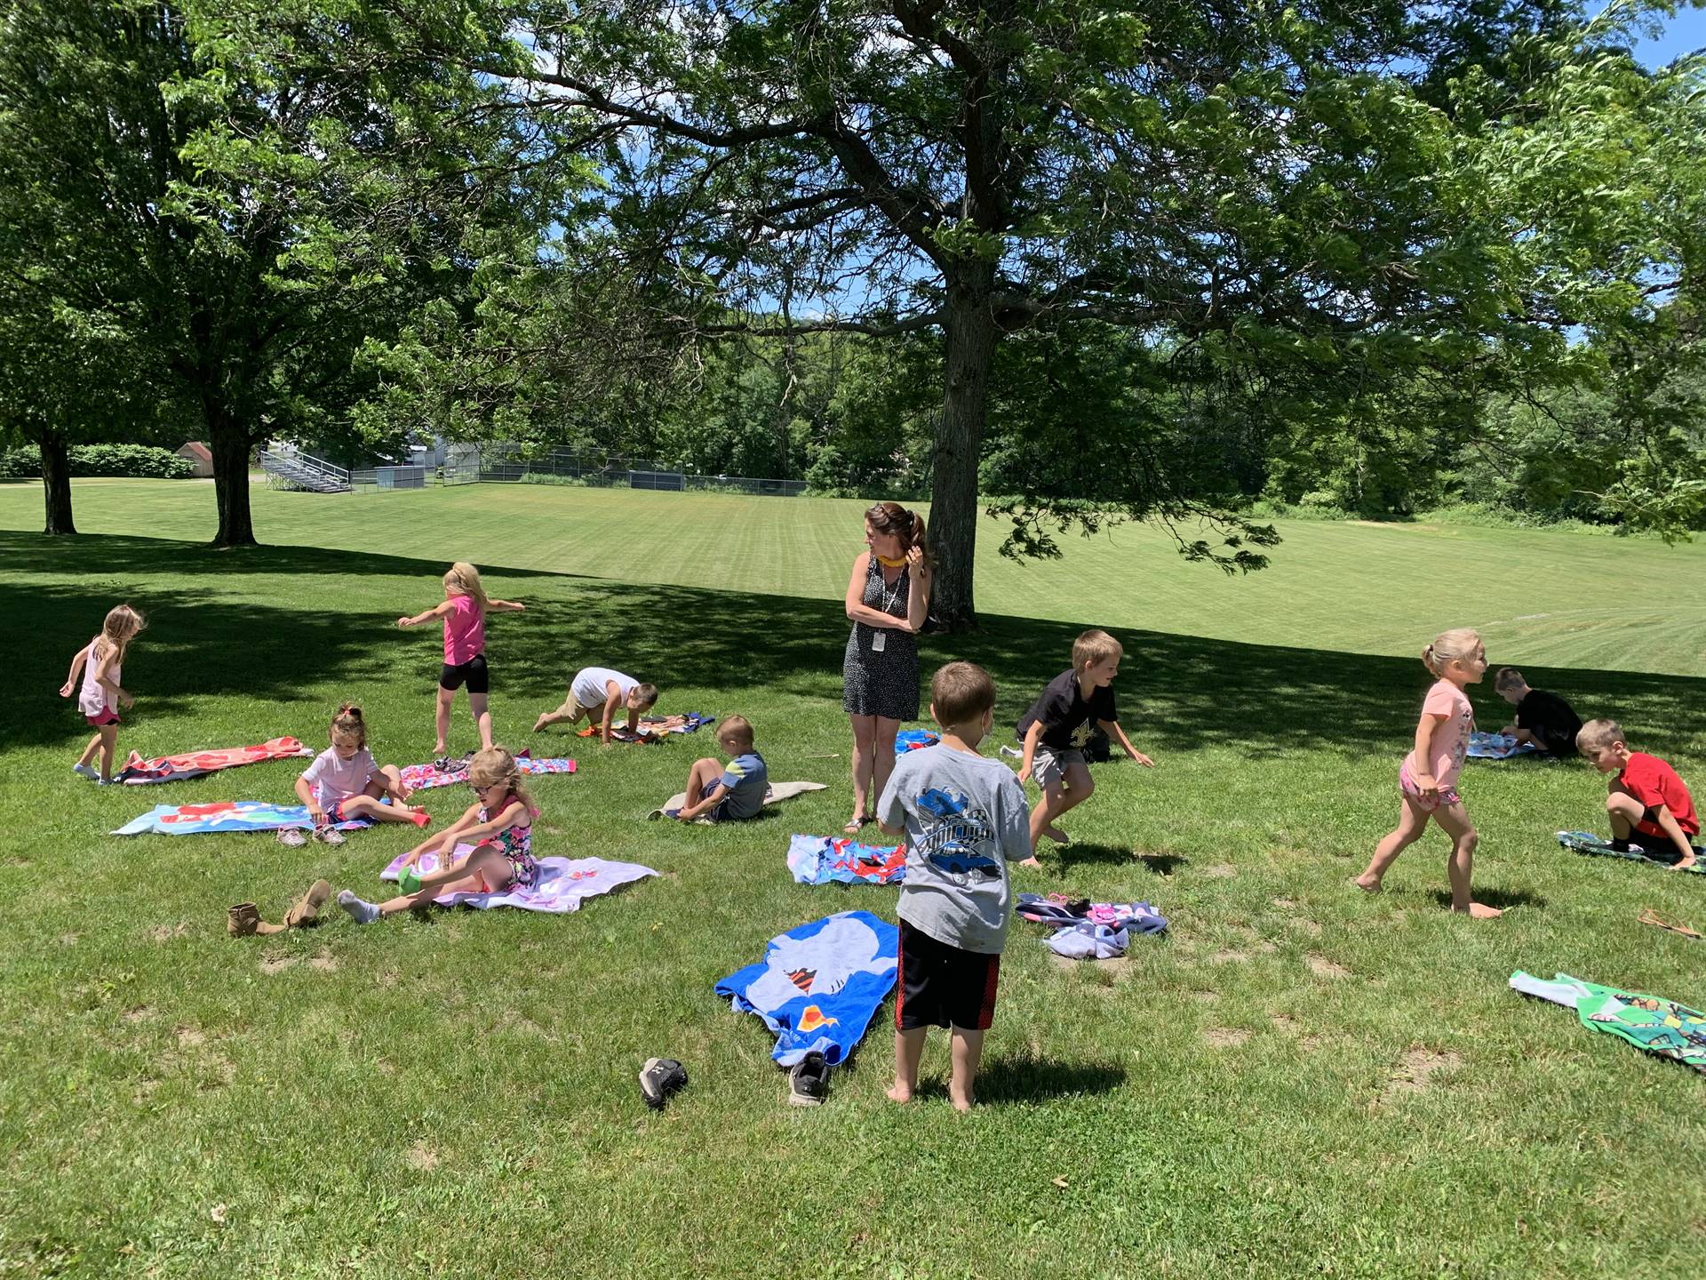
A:
[[[198,541],[212,490],[82,481],[78,527]],[[312,495],[254,488],[266,543],[577,573],[628,584],[839,599],[862,550],[862,502],[467,485]],[[0,527],[39,526],[39,486],[0,486]],[[1580,532],[1280,522],[1271,568],[1223,577],[1165,532],[1065,538],[1063,558],[1013,563],[984,522],[978,604],[991,614],[1095,620],[1174,635],[1356,654],[1413,654],[1483,628],[1494,662],[1706,674],[1706,548]],[[1692,585],[1691,585],[1692,584]]]

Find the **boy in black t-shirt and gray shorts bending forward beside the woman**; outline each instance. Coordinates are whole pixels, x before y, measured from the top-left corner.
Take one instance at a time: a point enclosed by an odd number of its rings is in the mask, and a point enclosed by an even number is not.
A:
[[[1085,631],[1073,640],[1071,671],[1051,679],[1018,722],[1018,736],[1025,739],[1018,780],[1025,782],[1034,775],[1042,788],[1042,799],[1030,811],[1030,857],[1022,865],[1039,865],[1037,840],[1042,836],[1066,843],[1066,833],[1054,826],[1054,819],[1088,800],[1095,790],[1090,766],[1083,759],[1083,746],[1095,725],[1117,737],[1126,754],[1140,765],[1155,765],[1131,746],[1114,710],[1114,689],[1109,686],[1119,674],[1119,659],[1124,655],[1126,650],[1107,631]]]

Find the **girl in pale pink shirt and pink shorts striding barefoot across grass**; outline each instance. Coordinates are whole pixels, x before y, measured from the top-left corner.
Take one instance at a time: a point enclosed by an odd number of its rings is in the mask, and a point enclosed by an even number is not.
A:
[[[1421,703],[1414,746],[1397,771],[1402,811],[1397,826],[1375,847],[1368,869],[1356,877],[1356,887],[1378,893],[1387,869],[1399,853],[1421,838],[1431,817],[1452,838],[1452,853],[1445,860],[1445,872],[1452,882],[1452,910],[1488,920],[1503,913],[1469,896],[1469,877],[1481,836],[1469,821],[1464,799],[1457,794],[1457,775],[1464,768],[1469,734],[1476,727],[1476,713],[1464,686],[1479,684],[1486,674],[1486,647],[1476,631],[1462,626],[1436,637],[1421,650],[1421,662],[1435,681]]]

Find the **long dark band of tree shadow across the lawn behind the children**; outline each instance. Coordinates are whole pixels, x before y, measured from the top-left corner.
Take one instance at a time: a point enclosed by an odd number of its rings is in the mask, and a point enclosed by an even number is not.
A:
[[[0,534],[0,551],[12,570],[89,575],[85,582],[0,585],[0,616],[27,626],[14,645],[19,696],[0,707],[0,744],[75,737],[82,725],[63,713],[55,693],[70,655],[106,609],[126,597],[152,613],[145,650],[136,655],[138,693],[150,701],[217,693],[290,701],[300,686],[324,683],[360,695],[363,679],[394,683],[399,669],[421,681],[423,701],[430,696],[437,628],[404,637],[396,618],[438,597],[447,556],[300,546],[217,551],[167,539],[19,532]],[[751,695],[764,691],[822,700],[839,717],[848,637],[839,601],[483,568],[529,579],[515,592],[527,611],[496,616],[488,631],[495,700],[549,710],[578,667],[616,666],[659,684],[665,710],[688,708],[672,691],[693,688],[693,701],[720,703],[696,710],[744,712]],[[239,577],[232,596],[220,592],[222,577],[246,573],[300,575],[302,589],[254,604],[235,597],[254,591]],[[350,580],[339,584],[339,575]],[[365,585],[362,579],[372,575],[420,582],[406,591]],[[1073,638],[1094,621],[988,616],[974,635],[921,637],[923,683],[928,688],[930,672],[952,659],[983,664],[996,681],[996,737],[1005,739],[1042,686],[1066,669]],[[1121,630],[1119,638],[1126,664],[1114,691],[1123,724],[1140,746],[1158,753],[1228,749],[1276,759],[1326,749],[1396,765],[1430,683],[1414,659],[1158,631]],[[1619,719],[1641,749],[1689,756],[1706,746],[1694,713],[1706,703],[1706,679],[1544,669],[1529,676],[1566,695],[1583,719]],[[1503,700],[1491,689],[1471,693],[1484,724],[1505,724],[1510,707]],[[761,724],[759,730],[769,742],[786,741],[788,725]]]

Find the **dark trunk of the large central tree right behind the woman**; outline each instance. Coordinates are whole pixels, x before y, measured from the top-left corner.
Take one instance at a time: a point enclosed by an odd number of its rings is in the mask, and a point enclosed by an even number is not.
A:
[[[972,560],[978,548],[978,459],[995,362],[995,265],[972,263],[949,276],[947,387],[931,449],[930,553],[935,585],[930,613],[949,631],[978,625]]]

